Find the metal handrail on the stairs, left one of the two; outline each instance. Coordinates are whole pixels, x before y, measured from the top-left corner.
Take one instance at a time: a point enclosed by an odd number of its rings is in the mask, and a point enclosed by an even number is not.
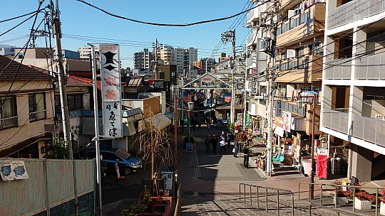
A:
[[[286,189],[279,189],[279,188],[270,188],[270,187],[264,187],[260,185],[250,185],[246,183],[240,183],[240,200],[241,200],[241,186],[243,185],[243,202],[246,202],[246,186],[250,188],[250,205],[252,205],[252,188],[257,188],[257,209],[260,208],[260,188],[265,189],[265,212],[267,213],[268,207],[267,207],[267,192],[268,190],[274,190],[277,195],[277,215],[279,215],[279,191],[284,191],[289,193],[289,195],[292,198],[292,216],[294,216],[294,195],[291,190],[286,190]]]

